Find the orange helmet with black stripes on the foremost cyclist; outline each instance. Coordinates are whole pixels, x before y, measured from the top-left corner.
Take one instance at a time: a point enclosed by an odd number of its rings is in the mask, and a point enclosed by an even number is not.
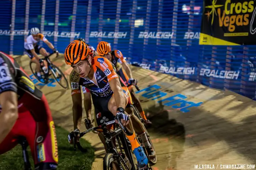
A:
[[[79,40],[74,40],[65,50],[64,58],[66,64],[76,64],[81,60],[85,60],[91,54],[89,47]]]

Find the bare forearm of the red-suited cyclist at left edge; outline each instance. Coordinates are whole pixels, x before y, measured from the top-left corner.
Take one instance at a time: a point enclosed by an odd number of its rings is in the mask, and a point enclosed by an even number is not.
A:
[[[5,113],[0,114],[0,143],[12,130],[16,120],[18,118],[18,113]]]

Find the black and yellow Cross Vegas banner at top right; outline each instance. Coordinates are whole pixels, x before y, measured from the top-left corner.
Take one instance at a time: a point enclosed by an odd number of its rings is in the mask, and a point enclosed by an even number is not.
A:
[[[255,45],[256,1],[204,0],[200,45]]]

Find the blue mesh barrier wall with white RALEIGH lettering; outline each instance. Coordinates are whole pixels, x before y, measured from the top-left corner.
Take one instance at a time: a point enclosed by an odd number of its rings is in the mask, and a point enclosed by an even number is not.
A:
[[[131,63],[255,99],[254,46],[199,46],[203,0],[3,0],[1,49],[23,54],[38,27],[55,48],[83,37],[111,43]],[[45,44],[42,44],[47,50]]]

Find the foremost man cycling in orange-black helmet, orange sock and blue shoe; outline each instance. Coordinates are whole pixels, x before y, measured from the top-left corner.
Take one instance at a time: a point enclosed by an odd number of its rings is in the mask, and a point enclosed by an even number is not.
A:
[[[88,46],[83,41],[78,40],[70,43],[64,54],[66,64],[71,65],[80,74],[81,78],[77,85],[82,85],[91,92],[95,112],[101,118],[96,119],[96,124],[101,125],[112,121],[116,115],[119,115],[122,124],[127,125],[127,128],[133,132],[131,136],[126,135],[126,137],[131,142],[139,168],[143,169],[147,166],[148,159],[136,138],[131,120],[124,111],[129,101],[128,88],[120,83],[120,79],[109,60],[104,57],[91,56],[93,53]],[[77,130],[74,131],[74,133],[76,132]],[[69,142],[72,140],[70,135]]]

